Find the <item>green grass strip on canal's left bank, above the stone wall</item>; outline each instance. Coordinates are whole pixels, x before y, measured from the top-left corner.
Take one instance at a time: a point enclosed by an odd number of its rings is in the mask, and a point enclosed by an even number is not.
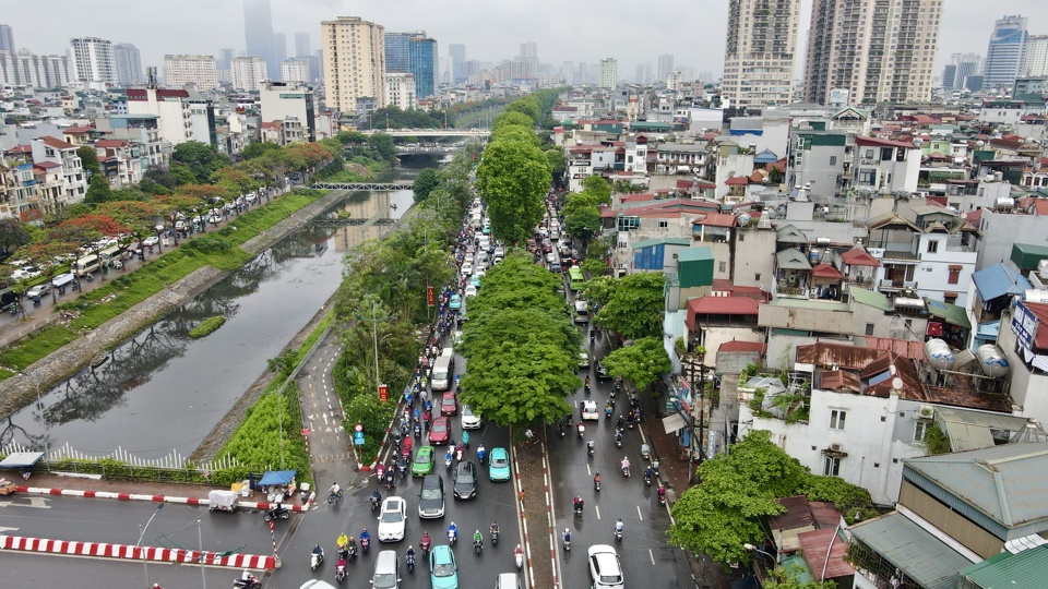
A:
[[[183,241],[177,250],[165,252],[134,272],[111,273],[106,286],[57,306],[59,310],[81,314],[70,323],[70,327],[52,325],[0,353],[0,365],[8,369],[0,370],[0,382],[202,267],[213,266],[223,272],[239,268],[251,260],[251,254],[241,250],[240,244],[272,228],[323,194],[322,191],[296,191],[285,194],[235,217],[222,229]]]

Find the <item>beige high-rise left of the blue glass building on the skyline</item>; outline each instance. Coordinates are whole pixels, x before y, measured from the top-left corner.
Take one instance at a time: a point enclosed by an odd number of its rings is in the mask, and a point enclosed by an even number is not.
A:
[[[357,100],[385,106],[385,46],[382,25],[359,16],[321,22],[326,105],[356,112]]]

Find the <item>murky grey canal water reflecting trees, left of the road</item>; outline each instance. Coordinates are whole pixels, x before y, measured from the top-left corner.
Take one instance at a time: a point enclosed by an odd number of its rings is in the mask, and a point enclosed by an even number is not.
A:
[[[332,211],[396,219],[410,205],[410,191],[355,193]],[[179,464],[335,292],[345,252],[391,227],[307,225],[111,350],[106,363],[41,392],[47,426],[34,402],[11,417],[0,446],[44,450],[47,437],[52,454]],[[189,337],[213,315],[225,325]]]

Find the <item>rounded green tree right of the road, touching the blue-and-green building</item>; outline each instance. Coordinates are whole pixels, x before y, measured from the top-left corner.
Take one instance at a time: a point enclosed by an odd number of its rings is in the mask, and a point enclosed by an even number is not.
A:
[[[618,286],[608,302],[597,311],[597,326],[611,329],[627,339],[662,337],[663,288],[660,272],[644,272],[616,278]]]

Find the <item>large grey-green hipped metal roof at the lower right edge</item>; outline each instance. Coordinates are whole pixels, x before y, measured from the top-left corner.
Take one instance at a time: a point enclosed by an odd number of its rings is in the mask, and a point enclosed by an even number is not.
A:
[[[903,478],[924,488],[915,472],[960,500],[954,509],[966,504],[1001,526],[1048,531],[1048,442],[905,460]]]

